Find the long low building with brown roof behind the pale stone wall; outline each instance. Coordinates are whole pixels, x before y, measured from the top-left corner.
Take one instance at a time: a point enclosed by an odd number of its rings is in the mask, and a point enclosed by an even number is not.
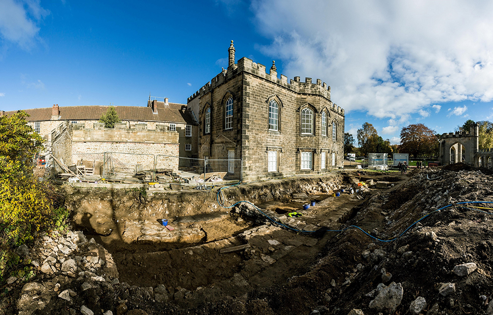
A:
[[[197,157],[198,122],[193,112],[185,105],[170,103],[168,98],[163,101],[149,100],[147,107],[143,106],[114,106],[118,117],[124,124],[123,129],[136,128],[145,124],[146,129],[159,129],[164,125],[170,131],[178,133],[179,156]],[[77,129],[94,129],[101,116],[109,106],[65,106],[54,104],[52,108],[25,109],[30,115],[28,124],[45,139],[47,152],[52,149],[52,131],[64,122],[77,124]],[[16,111],[0,112],[0,115],[12,115]],[[122,149],[124,150],[124,149]]]

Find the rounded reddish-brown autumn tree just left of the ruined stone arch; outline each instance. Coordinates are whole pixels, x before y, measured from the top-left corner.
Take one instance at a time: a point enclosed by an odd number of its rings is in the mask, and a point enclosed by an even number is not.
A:
[[[403,127],[400,137],[401,153],[409,153],[414,158],[436,156],[438,153],[438,137],[435,131],[423,124]]]

